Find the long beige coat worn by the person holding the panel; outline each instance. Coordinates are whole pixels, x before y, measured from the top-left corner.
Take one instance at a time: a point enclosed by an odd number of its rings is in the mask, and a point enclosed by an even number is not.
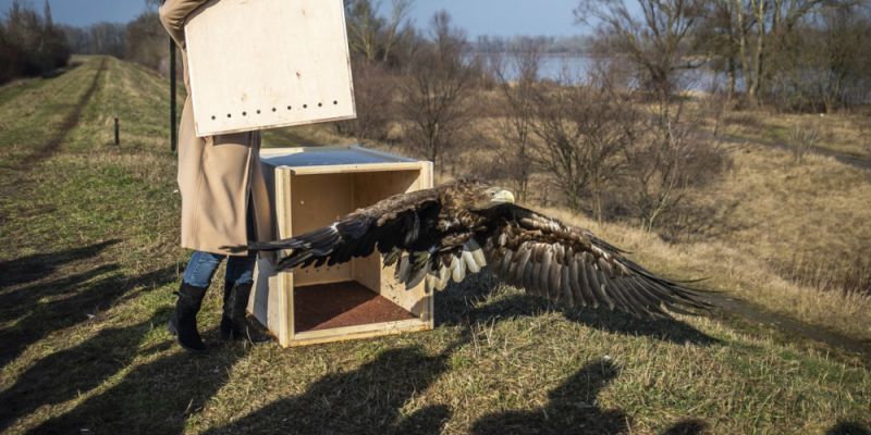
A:
[[[260,132],[201,138],[194,130],[184,25],[191,13],[207,1],[167,0],[160,7],[160,21],[181,47],[187,88],[179,127],[182,247],[230,253],[222,247],[248,241],[248,201],[253,202],[256,234],[252,237],[256,240],[273,238],[272,210],[260,167]]]

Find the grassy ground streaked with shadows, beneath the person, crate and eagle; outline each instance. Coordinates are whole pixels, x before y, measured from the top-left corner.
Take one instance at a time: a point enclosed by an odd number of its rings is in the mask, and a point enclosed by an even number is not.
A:
[[[295,349],[216,344],[212,289],[199,320],[216,346],[188,355],[164,327],[186,259],[168,97],[159,77],[110,58],[0,88],[0,432],[869,431],[869,353],[837,340],[728,311],[651,322],[549,307],[483,274],[438,295],[432,332]],[[333,138],[307,127],[266,140]],[[793,164],[787,151],[751,150],[724,182],[728,195],[750,197],[733,217],[740,229],[704,243],[549,212],[657,271],[711,276],[706,285],[762,313],[868,345],[867,296],[784,279],[769,261],[797,246],[796,234],[830,257],[867,240],[868,211],[843,203],[869,198],[868,175],[830,158]],[[759,175],[770,167],[789,177]],[[778,220],[807,209],[836,221]]]

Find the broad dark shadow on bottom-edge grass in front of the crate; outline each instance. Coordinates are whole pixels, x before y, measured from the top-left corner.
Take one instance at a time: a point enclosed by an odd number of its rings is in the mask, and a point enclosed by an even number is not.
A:
[[[450,370],[454,349],[428,356],[417,347],[390,349],[347,373],[328,374],[299,396],[277,400],[210,434],[434,434],[451,409],[432,405],[402,418],[401,409]]]

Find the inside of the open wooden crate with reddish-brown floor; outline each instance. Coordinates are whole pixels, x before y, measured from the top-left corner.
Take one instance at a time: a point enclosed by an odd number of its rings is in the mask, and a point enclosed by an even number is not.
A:
[[[412,189],[419,171],[293,175],[292,234],[330,225],[358,208]],[[380,254],[294,272],[294,330],[316,331],[419,319],[418,300],[382,270]],[[384,275],[388,276],[384,276]],[[382,283],[384,281],[384,283]]]

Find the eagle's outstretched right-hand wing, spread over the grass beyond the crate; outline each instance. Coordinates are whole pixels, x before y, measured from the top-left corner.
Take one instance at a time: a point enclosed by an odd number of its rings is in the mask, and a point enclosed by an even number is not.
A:
[[[700,290],[654,275],[587,229],[518,206],[505,206],[477,236],[492,272],[505,282],[568,306],[609,307],[636,316],[694,313],[710,306]],[[667,311],[666,311],[667,310]]]

